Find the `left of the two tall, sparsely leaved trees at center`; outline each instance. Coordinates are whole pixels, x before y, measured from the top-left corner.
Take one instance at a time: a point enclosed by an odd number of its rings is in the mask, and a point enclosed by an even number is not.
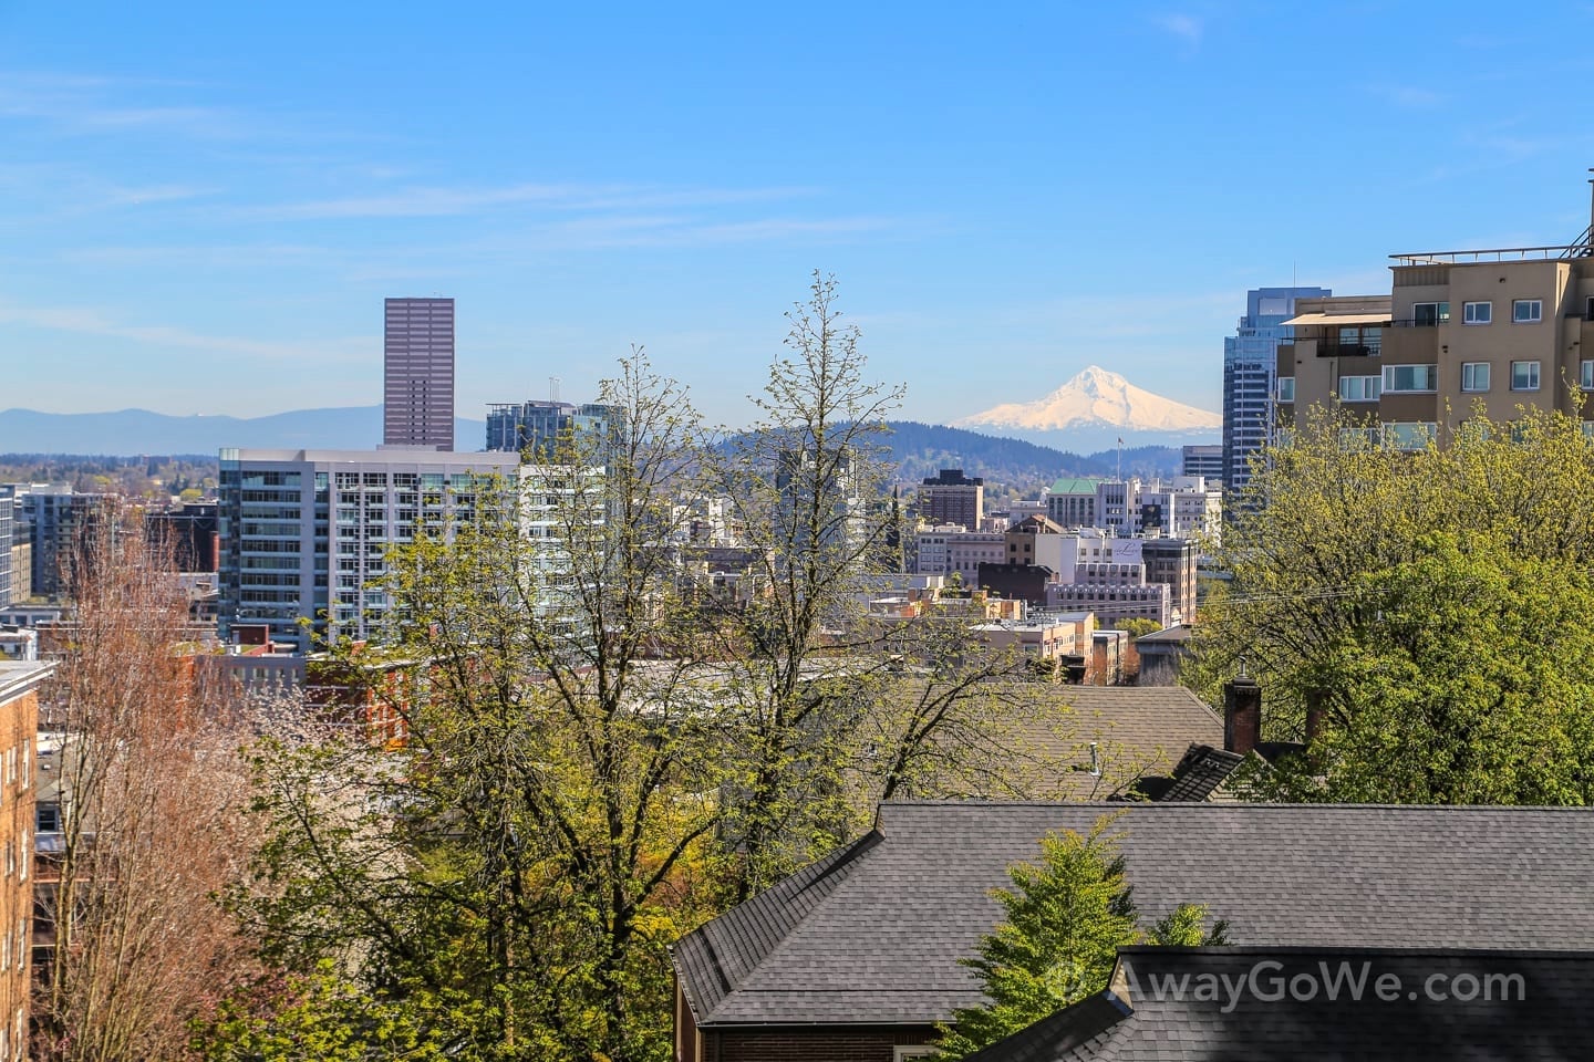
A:
[[[271,842],[236,908],[289,970],[332,960],[451,1027],[454,1057],[665,1057],[665,949],[713,912],[719,734],[663,545],[700,427],[641,357],[601,401],[607,431],[391,556],[384,645],[343,667],[411,662],[405,747],[257,761]]]

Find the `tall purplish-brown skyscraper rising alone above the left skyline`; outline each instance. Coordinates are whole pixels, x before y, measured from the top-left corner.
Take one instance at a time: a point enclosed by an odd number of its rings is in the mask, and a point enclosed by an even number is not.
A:
[[[383,446],[454,449],[454,299],[387,299]]]

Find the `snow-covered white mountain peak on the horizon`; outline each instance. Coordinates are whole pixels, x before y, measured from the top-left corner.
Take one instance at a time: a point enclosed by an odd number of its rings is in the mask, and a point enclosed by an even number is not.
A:
[[[1152,395],[1117,373],[1092,365],[1046,398],[993,406],[953,420],[952,427],[1020,438],[1068,433],[1100,439],[1108,431],[1140,444],[1149,441],[1146,436],[1210,439],[1223,428],[1223,417]]]

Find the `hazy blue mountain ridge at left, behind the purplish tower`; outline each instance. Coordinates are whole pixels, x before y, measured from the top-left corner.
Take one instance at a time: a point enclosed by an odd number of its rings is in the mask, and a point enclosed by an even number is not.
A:
[[[0,411],[0,452],[13,454],[215,454],[223,446],[363,451],[381,441],[381,406],[293,409],[265,417],[172,417],[148,409]],[[485,441],[485,422],[454,420],[454,446],[478,451]]]

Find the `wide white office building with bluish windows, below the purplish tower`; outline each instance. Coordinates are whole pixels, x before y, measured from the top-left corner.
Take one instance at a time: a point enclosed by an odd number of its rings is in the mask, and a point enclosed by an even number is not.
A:
[[[303,653],[312,638],[301,618],[317,635],[365,637],[387,608],[389,546],[475,517],[493,503],[485,476],[518,484],[518,455],[223,449],[222,637],[265,624],[271,642]]]

